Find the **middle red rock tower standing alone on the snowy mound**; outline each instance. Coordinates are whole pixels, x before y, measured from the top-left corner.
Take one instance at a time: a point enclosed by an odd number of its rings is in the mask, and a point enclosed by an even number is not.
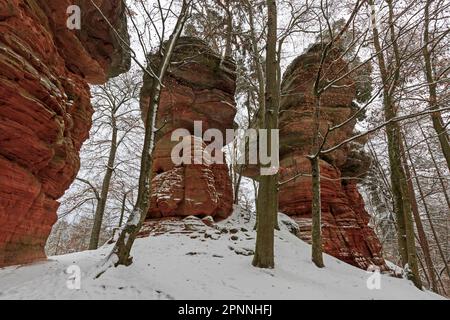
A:
[[[158,64],[157,56],[152,57],[152,64]],[[158,109],[149,218],[194,215],[220,220],[232,213],[228,167],[225,162],[217,164],[208,160],[211,155],[202,139],[208,129],[218,129],[225,137],[226,129],[233,128],[235,68],[231,59],[222,61],[199,39],[182,37],[178,41]],[[141,92],[144,116],[151,85],[152,79],[146,75]],[[194,136],[194,121],[201,121],[198,136]],[[174,165],[171,152],[178,141],[171,141],[171,135],[180,128],[187,129],[188,141],[198,142],[195,148],[204,154],[201,164],[194,163],[192,150],[190,164]]]

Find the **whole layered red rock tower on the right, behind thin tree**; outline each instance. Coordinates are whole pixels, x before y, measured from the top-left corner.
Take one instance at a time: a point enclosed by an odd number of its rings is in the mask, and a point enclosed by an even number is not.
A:
[[[324,78],[335,79],[348,70],[346,62],[332,53],[324,66]],[[280,114],[280,181],[299,174],[311,173],[310,161],[313,133],[313,83],[320,53],[312,47],[299,56],[285,73]],[[334,61],[331,63],[331,61]],[[355,110],[352,101],[356,89],[350,77],[342,78],[321,98],[320,130],[342,123]],[[325,149],[352,136],[356,120],[328,135]],[[376,265],[386,269],[381,245],[368,226],[370,216],[357,189],[370,166],[363,151],[364,141],[345,145],[321,159],[322,236],[324,252],[349,264],[367,269]],[[300,237],[311,241],[311,177],[298,177],[280,187],[279,209],[300,225]]]

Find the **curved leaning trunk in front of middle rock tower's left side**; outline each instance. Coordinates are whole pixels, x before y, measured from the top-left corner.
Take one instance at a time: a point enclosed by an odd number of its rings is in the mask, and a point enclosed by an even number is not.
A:
[[[141,157],[141,172],[139,175],[139,188],[137,200],[134,205],[133,211],[128,218],[125,228],[121,231],[119,238],[113,248],[113,251],[107,258],[106,267],[108,264],[113,263],[118,265],[130,265],[132,258],[130,256],[133,243],[141,229],[150,205],[150,188],[152,179],[152,152],[155,143],[155,124],[156,116],[158,112],[158,105],[161,96],[161,88],[164,76],[167,68],[170,64],[174,47],[180,37],[181,31],[184,27],[186,19],[188,17],[188,9],[190,7],[190,1],[183,1],[180,15],[178,17],[175,28],[170,36],[169,40],[165,44],[163,56],[156,73],[156,77],[153,78],[152,88],[150,90],[150,105],[145,118],[145,135],[144,145],[142,148]],[[161,43],[161,46],[164,44]],[[104,272],[104,271],[103,271]],[[100,273],[98,276],[100,276]]]

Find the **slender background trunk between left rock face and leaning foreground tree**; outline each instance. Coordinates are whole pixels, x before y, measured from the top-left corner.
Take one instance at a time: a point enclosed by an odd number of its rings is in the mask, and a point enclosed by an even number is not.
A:
[[[109,186],[111,184],[111,178],[114,172],[114,164],[116,161],[117,124],[116,124],[116,117],[114,115],[114,108],[111,111],[111,126],[112,126],[112,136],[111,136],[111,146],[109,149],[108,164],[106,166],[105,176],[103,177],[100,199],[98,200],[97,207],[95,209],[94,226],[92,227],[91,238],[89,241],[89,250],[95,250],[98,247],[103,216],[105,214],[106,201],[108,199]]]

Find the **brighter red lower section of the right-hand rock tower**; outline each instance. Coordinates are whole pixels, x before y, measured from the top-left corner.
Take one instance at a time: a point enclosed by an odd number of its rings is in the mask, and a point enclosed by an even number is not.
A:
[[[281,161],[281,181],[311,172],[310,161],[291,155]],[[321,161],[322,243],[324,252],[349,264],[367,269],[371,265],[387,269],[381,244],[372,228],[370,216],[358,191],[356,180],[342,179],[338,168]],[[311,242],[311,177],[299,177],[280,188],[280,211],[300,226],[301,239]]]

